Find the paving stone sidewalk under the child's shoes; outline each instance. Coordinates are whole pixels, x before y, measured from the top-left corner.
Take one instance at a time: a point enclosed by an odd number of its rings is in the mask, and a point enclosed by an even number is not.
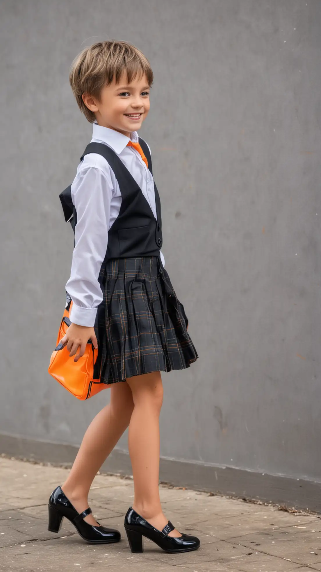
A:
[[[68,469],[0,457],[0,570],[5,572],[308,572],[321,571],[321,519],[291,514],[207,492],[160,486],[165,515],[180,532],[200,538],[199,550],[168,554],[144,539],[132,554],[124,515],[133,480],[97,475],[89,504],[97,520],[121,531],[121,541],[90,545],[67,520],[47,530],[47,501]]]

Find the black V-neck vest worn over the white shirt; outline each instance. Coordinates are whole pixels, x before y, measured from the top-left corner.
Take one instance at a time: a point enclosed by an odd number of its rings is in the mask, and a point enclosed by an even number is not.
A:
[[[148,145],[140,137],[138,141],[148,161],[150,173],[153,173]],[[120,212],[108,231],[108,247],[104,263],[112,258],[160,256],[163,243],[161,205],[155,182],[157,220],[141,188],[113,149],[104,143],[89,143],[81,156],[81,161],[88,153],[98,153],[105,157],[115,174],[122,197]],[[77,212],[72,202],[71,185],[60,194],[60,200],[65,220],[70,221],[74,231]]]

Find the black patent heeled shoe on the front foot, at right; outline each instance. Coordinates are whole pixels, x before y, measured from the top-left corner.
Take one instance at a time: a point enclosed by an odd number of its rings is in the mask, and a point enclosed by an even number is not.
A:
[[[125,515],[124,527],[130,550],[135,553],[144,551],[143,537],[149,538],[160,548],[171,553],[189,552],[200,546],[199,538],[189,534],[181,533],[181,537],[169,537],[168,533],[175,529],[171,521],[168,521],[163,530],[158,530],[145,521],[131,506]]]

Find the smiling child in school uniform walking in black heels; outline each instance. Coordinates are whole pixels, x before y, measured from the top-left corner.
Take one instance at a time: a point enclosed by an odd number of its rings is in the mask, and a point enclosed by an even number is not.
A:
[[[92,142],[112,149],[117,177],[96,152],[86,154],[78,165],[72,184],[75,245],[66,283],[73,300],[72,324],[61,341],[76,362],[87,341],[97,347],[99,337],[100,379],[111,394],[110,404],[86,430],[68,478],[50,496],[48,527],[58,532],[66,517],[86,541],[120,540],[118,530],[95,521],[88,494],[97,471],[129,426],[134,502],[124,525],[130,549],[142,552],[145,536],[173,553],[195,550],[200,541],[181,534],[161,509],[160,372],[187,368],[198,355],[160,251],[160,199],[150,148],[138,141],[152,82],[148,60],[123,41],[94,43],[70,69],[77,104],[93,123]]]

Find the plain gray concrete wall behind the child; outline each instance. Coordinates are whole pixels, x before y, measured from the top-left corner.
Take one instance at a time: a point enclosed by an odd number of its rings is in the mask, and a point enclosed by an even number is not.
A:
[[[58,194],[92,129],[68,70],[126,39],[155,75],[140,134],[200,356],[163,374],[161,455],[321,482],[321,2],[2,0],[0,22],[0,432],[79,444],[109,400],[47,367],[73,250]]]

